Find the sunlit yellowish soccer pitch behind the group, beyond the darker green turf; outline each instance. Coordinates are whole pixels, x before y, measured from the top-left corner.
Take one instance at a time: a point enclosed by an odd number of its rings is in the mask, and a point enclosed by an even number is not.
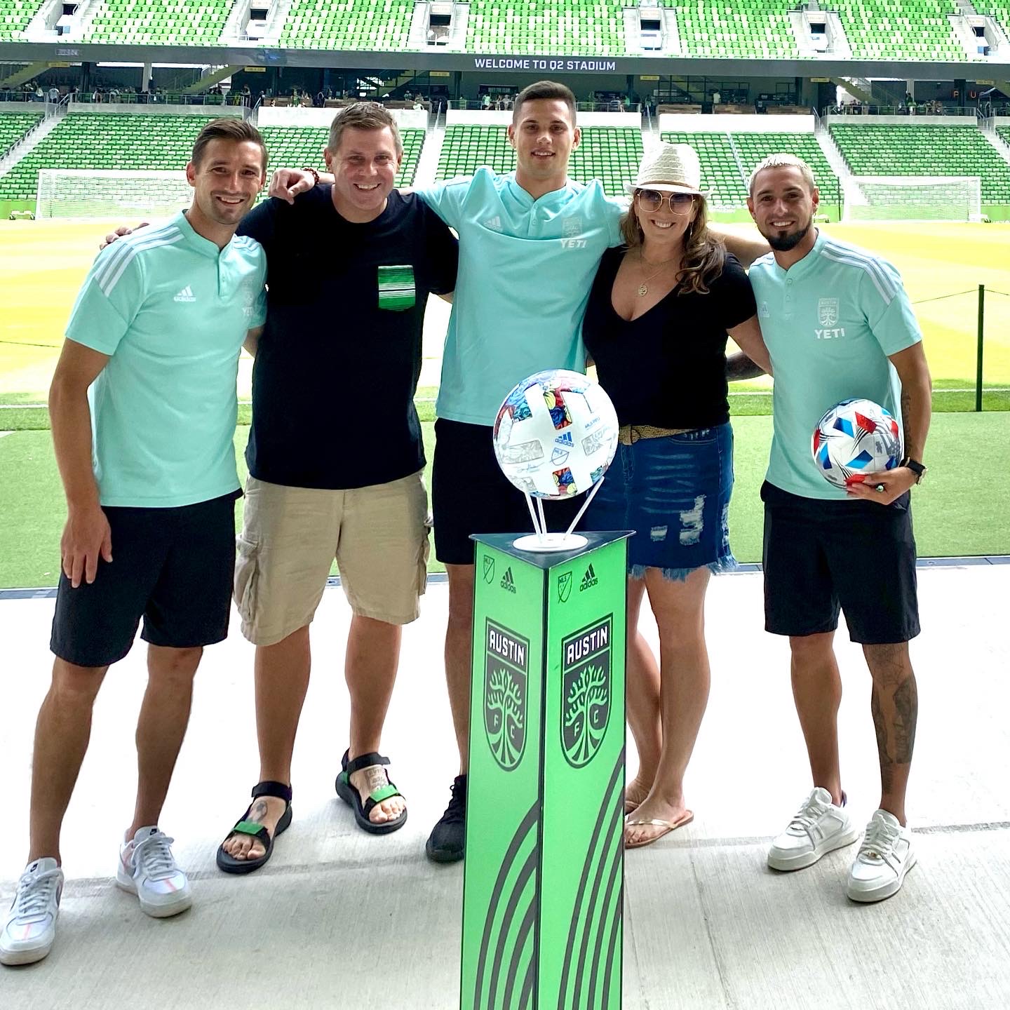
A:
[[[74,298],[99,239],[115,223],[123,222],[0,221],[0,404],[45,399]],[[985,385],[1010,387],[1010,226],[832,224],[827,230],[874,249],[901,271],[925,334],[937,390],[974,388],[977,292],[980,284],[986,285]],[[422,384],[437,382],[446,316],[441,304],[429,308],[429,367]],[[240,376],[243,395],[248,376],[246,363]],[[935,407],[971,409],[973,402],[971,394],[938,392]],[[992,405],[1006,406],[1002,398]],[[758,409],[767,412],[767,404]],[[0,428],[7,426],[0,420]]]

